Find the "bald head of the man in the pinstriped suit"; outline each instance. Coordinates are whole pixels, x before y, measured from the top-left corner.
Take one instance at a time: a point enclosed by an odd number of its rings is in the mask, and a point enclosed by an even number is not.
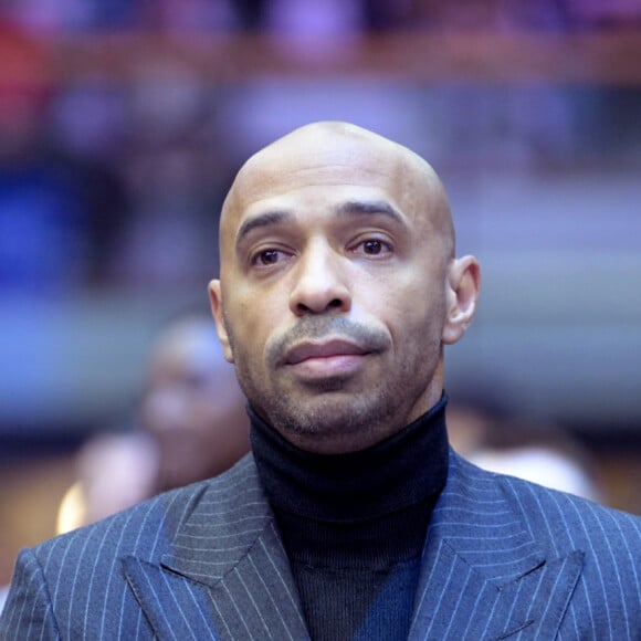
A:
[[[292,443],[365,449],[439,400],[479,267],[454,258],[444,189],[419,156],[344,123],[296,129],[239,171],[220,245],[225,356]]]

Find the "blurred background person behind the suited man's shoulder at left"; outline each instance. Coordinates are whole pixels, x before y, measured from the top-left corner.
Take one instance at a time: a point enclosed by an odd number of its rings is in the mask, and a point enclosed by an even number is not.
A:
[[[250,448],[244,406],[211,318],[171,323],[151,349],[139,427],[98,433],[81,448],[57,532],[231,467]]]

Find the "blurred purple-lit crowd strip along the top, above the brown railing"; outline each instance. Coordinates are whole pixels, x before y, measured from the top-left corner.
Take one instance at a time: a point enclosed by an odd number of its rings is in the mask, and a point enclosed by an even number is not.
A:
[[[634,0],[9,0],[39,30],[581,29],[639,21]]]

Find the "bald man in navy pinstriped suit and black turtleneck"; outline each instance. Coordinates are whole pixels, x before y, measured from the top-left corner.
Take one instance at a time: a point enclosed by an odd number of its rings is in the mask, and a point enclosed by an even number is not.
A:
[[[2,639],[638,638],[639,518],[448,451],[479,266],[430,166],[313,124],[245,164],[220,234],[252,454],[23,551]]]

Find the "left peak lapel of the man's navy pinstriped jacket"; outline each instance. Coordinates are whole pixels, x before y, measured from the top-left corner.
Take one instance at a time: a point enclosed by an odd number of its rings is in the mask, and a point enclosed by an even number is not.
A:
[[[159,639],[308,639],[249,458],[209,485],[160,566],[129,557],[124,571]]]

